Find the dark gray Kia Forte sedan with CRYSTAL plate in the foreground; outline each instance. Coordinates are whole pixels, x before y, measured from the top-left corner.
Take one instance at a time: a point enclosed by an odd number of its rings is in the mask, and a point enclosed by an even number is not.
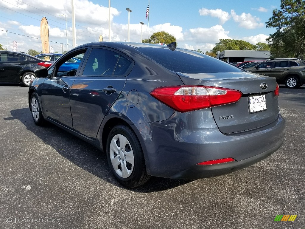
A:
[[[76,70],[60,72],[84,54]],[[106,153],[116,179],[199,179],[245,168],[284,141],[276,79],[170,45],[95,42],[36,71],[28,101]]]

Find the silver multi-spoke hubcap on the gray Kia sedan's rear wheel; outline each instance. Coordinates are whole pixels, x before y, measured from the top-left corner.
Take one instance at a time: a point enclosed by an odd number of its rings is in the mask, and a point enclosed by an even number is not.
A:
[[[131,175],[135,160],[131,145],[121,134],[115,135],[110,143],[110,160],[117,175],[127,178]]]

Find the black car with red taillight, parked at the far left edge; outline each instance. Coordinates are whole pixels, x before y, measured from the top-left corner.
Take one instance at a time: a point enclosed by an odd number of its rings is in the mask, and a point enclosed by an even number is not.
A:
[[[24,53],[0,51],[0,83],[23,83],[30,85],[36,78],[35,71],[50,67],[52,63]]]

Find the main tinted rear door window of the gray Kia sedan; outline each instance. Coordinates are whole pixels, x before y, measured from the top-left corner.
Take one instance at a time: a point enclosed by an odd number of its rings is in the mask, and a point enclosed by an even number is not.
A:
[[[120,54],[108,49],[93,48],[88,56],[83,75],[113,75]]]

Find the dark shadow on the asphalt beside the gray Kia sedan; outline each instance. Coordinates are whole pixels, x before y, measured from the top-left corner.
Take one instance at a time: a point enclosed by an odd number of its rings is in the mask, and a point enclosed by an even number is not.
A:
[[[43,140],[45,144],[51,146],[70,162],[110,184],[125,189],[125,187],[121,186],[117,180],[114,179],[109,170],[106,155],[99,149],[78,137],[63,131],[63,129],[50,122],[45,122],[43,127],[35,125],[29,108],[12,110],[10,113],[12,117],[4,118],[4,120],[19,120],[26,126],[27,130],[34,133]],[[191,181],[192,180],[151,177],[143,186],[130,190],[143,193],[156,192],[178,187]]]

